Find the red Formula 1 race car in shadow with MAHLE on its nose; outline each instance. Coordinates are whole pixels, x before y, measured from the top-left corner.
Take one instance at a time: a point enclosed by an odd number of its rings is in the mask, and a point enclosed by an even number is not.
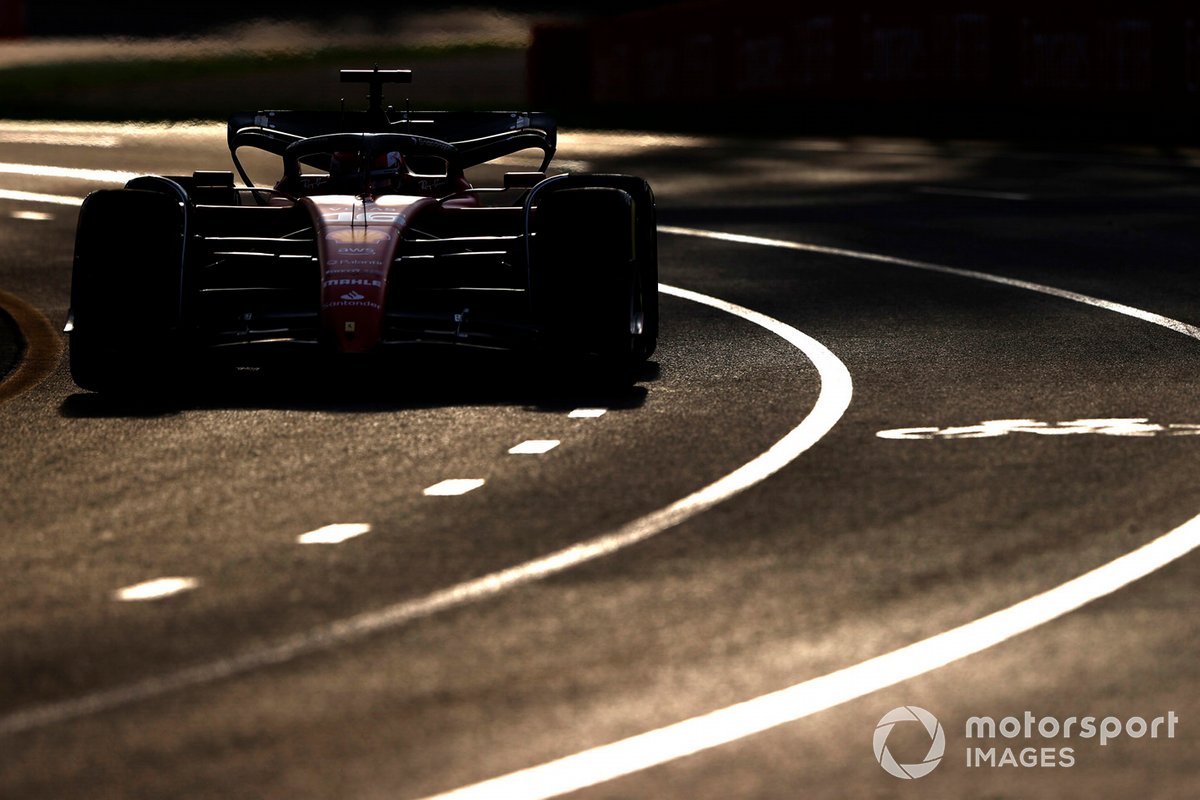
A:
[[[233,172],[197,172],[86,197],[67,324],[76,384],[126,391],[202,361],[361,360],[422,344],[634,374],[658,341],[649,185],[547,176],[557,134],[545,114],[397,112],[383,86],[409,71],[341,78],[370,86],[367,110],[229,119],[244,186]],[[244,148],[282,160],[274,186],[250,179]],[[522,151],[536,172],[468,181],[466,170]]]

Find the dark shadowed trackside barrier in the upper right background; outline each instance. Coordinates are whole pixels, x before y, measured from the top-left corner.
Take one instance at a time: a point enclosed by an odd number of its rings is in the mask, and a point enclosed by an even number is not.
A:
[[[534,29],[530,97],[748,126],[822,110],[1194,122],[1200,5],[709,0]],[[751,113],[769,112],[772,120]]]

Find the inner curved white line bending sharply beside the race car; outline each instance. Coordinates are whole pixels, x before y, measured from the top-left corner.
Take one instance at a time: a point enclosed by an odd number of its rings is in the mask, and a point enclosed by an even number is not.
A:
[[[308,632],[284,639],[271,646],[257,648],[205,664],[150,678],[136,684],[118,686],[79,698],[50,703],[0,718],[0,735],[40,728],[76,717],[96,714],[168,692],[209,684],[223,678],[284,663],[299,656],[325,650],[338,644],[361,639],[372,633],[394,628],[438,612],[492,597],[502,591],[557,575],[586,561],[616,553],[646,541],[652,536],[707,511],[743,489],[766,480],[827,434],[850,405],[852,384],[850,372],[838,357],[816,339],[794,327],[756,311],[737,306],[695,291],[660,285],[660,291],[698,302],[760,325],[799,348],[816,366],[821,375],[821,393],[812,410],[769,450],[743,464],[725,477],[689,494],[682,500],[635,519],[623,528],[595,539],[572,545],[550,555],[520,564],[499,572],[467,581],[418,600],[409,600],[379,610],[367,612],[330,622]]]

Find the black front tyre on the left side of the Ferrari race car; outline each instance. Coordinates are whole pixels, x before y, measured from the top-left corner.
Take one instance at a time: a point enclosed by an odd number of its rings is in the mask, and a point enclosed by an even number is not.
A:
[[[179,326],[182,253],[178,199],[139,190],[88,196],[71,277],[71,377],[80,389],[162,385]]]

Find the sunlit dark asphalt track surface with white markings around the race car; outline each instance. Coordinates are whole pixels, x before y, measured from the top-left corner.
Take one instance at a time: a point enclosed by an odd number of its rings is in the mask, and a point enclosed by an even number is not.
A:
[[[565,137],[658,196],[630,391],[122,404],[54,333],[76,170],[221,132],[0,140],[0,796],[1195,796],[1198,154]]]

